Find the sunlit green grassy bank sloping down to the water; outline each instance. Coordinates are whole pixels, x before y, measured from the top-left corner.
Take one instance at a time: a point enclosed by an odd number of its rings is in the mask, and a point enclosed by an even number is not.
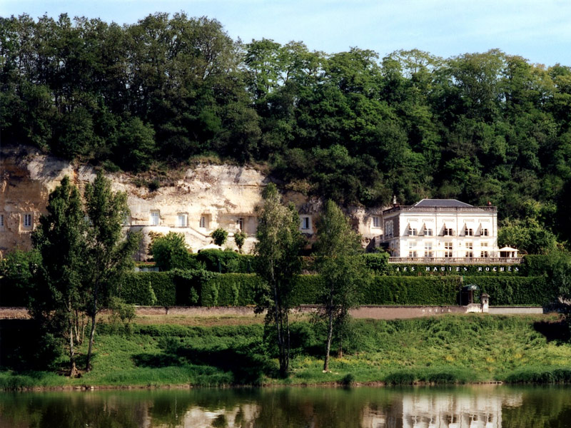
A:
[[[351,340],[343,343],[345,355],[333,359],[330,373],[322,372],[322,332],[309,322],[295,322],[288,379],[277,378],[276,350],[264,345],[261,324],[141,321],[128,334],[102,324],[94,370],[79,379],[5,367],[0,387],[571,382],[571,345],[555,316],[358,320]]]

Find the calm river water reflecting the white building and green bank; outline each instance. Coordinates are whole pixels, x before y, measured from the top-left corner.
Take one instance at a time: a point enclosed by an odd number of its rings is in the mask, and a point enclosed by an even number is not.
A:
[[[571,387],[2,392],[0,427],[571,427]]]

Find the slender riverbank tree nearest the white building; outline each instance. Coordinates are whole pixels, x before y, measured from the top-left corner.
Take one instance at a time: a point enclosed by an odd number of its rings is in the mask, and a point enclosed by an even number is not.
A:
[[[348,219],[332,200],[325,204],[317,230],[315,266],[323,278],[320,316],[327,326],[323,370],[328,371],[333,327],[342,330],[348,324],[349,310],[359,304],[359,288],[366,281],[367,269],[365,260],[359,257],[360,236],[351,229]]]

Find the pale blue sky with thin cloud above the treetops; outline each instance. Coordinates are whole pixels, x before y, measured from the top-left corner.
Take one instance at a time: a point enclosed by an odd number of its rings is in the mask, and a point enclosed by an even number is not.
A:
[[[184,11],[248,42],[303,41],[328,54],[357,46],[381,57],[420,49],[449,58],[500,49],[532,63],[571,66],[570,0],[0,0],[0,16],[86,16],[134,24]]]

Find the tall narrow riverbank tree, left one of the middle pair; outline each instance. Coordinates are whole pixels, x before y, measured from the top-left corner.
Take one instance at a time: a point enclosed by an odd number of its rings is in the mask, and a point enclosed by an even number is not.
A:
[[[293,307],[292,292],[301,272],[299,252],[305,240],[299,230],[299,215],[293,205],[285,207],[276,185],[268,184],[264,203],[258,212],[258,255],[256,270],[266,282],[266,292],[257,297],[258,312],[265,309],[266,325],[273,324],[278,341],[280,374],[286,377],[290,360],[289,312]]]

